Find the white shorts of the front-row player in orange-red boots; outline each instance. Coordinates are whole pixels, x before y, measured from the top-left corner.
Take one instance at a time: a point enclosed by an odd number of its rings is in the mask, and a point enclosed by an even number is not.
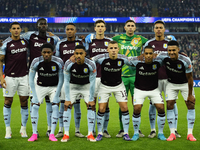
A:
[[[75,103],[77,99],[84,99],[86,103],[90,99],[90,83],[80,85],[70,83],[70,101]]]

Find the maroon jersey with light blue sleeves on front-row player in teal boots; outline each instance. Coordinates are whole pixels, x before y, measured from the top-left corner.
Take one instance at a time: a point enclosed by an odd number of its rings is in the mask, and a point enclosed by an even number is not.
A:
[[[135,87],[140,90],[154,90],[158,87],[158,70],[162,65],[162,59],[157,57],[151,64],[139,61],[137,57],[130,59],[136,66]]]

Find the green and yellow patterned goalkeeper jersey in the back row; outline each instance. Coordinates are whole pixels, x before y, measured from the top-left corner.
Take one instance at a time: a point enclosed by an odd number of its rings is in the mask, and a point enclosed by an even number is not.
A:
[[[112,38],[118,43],[119,53],[124,54],[127,57],[130,56],[139,56],[142,51],[142,46],[148,41],[141,35],[133,35],[132,37],[127,36],[126,34],[121,34],[114,36]],[[128,65],[122,67],[122,76],[135,76],[136,68]]]

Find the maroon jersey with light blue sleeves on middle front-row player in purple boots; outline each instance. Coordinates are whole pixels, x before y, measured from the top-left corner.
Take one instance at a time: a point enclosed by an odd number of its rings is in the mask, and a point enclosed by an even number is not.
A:
[[[107,86],[117,86],[122,83],[121,74],[124,64],[131,65],[128,57],[118,54],[117,59],[110,59],[109,53],[100,54],[92,58],[101,64],[101,83]]]

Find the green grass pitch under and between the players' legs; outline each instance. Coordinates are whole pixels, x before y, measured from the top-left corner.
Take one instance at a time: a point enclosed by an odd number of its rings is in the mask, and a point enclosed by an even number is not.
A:
[[[200,147],[200,88],[195,88],[196,93],[196,121],[194,125],[194,136],[196,137],[196,142],[190,142],[186,140],[187,136],[187,109],[185,106],[185,102],[182,99],[182,96],[179,95],[179,99],[177,101],[178,105],[178,132],[182,136],[181,138],[177,138],[175,141],[167,142],[167,141],[160,141],[157,138],[149,139],[147,136],[150,133],[150,124],[149,124],[149,117],[148,117],[148,110],[149,110],[149,100],[144,102],[144,106],[141,113],[141,130],[143,134],[145,134],[144,138],[140,138],[138,141],[124,141],[121,138],[116,138],[115,135],[119,131],[119,123],[118,123],[118,104],[116,103],[115,99],[112,97],[110,99],[110,122],[108,125],[108,131],[112,138],[106,139],[103,138],[102,141],[92,143],[86,140],[86,138],[77,138],[74,135],[75,128],[74,128],[74,119],[72,116],[71,119],[71,127],[70,127],[70,140],[67,143],[60,142],[61,138],[59,138],[58,142],[51,142],[46,137],[47,131],[47,121],[46,121],[46,104],[42,104],[39,109],[39,123],[38,123],[38,131],[40,137],[36,142],[28,142],[28,138],[21,138],[19,134],[20,125],[21,125],[21,114],[20,114],[20,104],[18,96],[15,95],[14,102],[12,104],[12,115],[11,115],[11,129],[12,129],[12,138],[5,139],[5,125],[3,121],[3,105],[4,105],[4,98],[2,96],[2,89],[0,90],[0,150],[32,150],[32,149],[199,149]],[[129,97],[129,113],[130,113],[130,127],[129,127],[129,135],[130,137],[133,136],[133,125],[132,125],[132,113],[133,107],[131,104],[131,100]],[[81,133],[86,135],[87,134],[87,111],[83,101],[81,101],[81,111],[82,111],[82,119],[81,119]],[[73,111],[72,111],[73,112]],[[58,125],[56,129],[56,133],[58,132]],[[56,134],[55,133],[55,134]],[[31,127],[31,119],[29,116],[29,120],[27,123],[27,134],[30,137],[32,134],[32,127]],[[164,134],[166,137],[169,136],[169,127],[165,124]]]

